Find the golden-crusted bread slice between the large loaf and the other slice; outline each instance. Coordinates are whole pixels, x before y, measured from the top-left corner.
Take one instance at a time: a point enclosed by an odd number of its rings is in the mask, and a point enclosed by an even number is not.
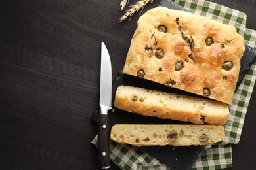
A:
[[[229,115],[228,105],[219,101],[133,86],[119,86],[114,105],[144,116],[194,124],[225,124]]]

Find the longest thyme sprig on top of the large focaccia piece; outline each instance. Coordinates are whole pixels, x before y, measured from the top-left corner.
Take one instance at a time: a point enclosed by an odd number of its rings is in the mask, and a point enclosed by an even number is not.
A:
[[[196,62],[193,58],[193,50],[194,50],[194,39],[192,37],[192,35],[184,35],[184,32],[182,31],[182,26],[180,25],[180,19],[176,18],[175,19],[176,24],[178,25],[178,29],[181,32],[181,37],[182,39],[184,39],[184,41],[186,42],[186,44],[188,44],[189,48],[190,48],[190,54],[188,54],[188,58],[192,59],[192,61]],[[186,25],[184,23],[182,23],[185,27]]]

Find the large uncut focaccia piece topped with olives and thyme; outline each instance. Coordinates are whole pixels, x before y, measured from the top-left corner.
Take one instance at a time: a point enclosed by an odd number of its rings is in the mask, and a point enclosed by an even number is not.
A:
[[[232,25],[156,7],[139,18],[123,73],[231,104],[244,50]]]

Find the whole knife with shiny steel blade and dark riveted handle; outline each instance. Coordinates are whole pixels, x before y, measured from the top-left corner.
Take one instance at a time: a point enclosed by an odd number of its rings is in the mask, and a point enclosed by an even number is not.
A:
[[[110,109],[112,109],[112,67],[108,50],[104,42],[101,42],[98,159],[102,169],[110,168],[110,124],[108,122],[108,110]]]

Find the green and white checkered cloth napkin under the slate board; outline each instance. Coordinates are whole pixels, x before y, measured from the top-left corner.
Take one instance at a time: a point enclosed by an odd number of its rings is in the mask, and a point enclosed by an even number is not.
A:
[[[234,25],[238,33],[244,35],[245,43],[256,49],[256,31],[246,29],[246,15],[238,10],[230,9],[204,0],[175,0],[175,3],[190,10],[194,14],[213,18],[224,24]],[[224,126],[226,137],[220,143],[206,146],[200,153],[192,169],[223,169],[232,167],[231,144],[240,141],[244,119],[253,92],[256,79],[256,61],[245,75],[236,90],[233,103],[230,105],[230,116]],[[97,137],[91,143],[96,145]],[[110,142],[110,159],[121,169],[171,169],[160,163],[149,154],[141,152],[137,147],[128,144]]]

